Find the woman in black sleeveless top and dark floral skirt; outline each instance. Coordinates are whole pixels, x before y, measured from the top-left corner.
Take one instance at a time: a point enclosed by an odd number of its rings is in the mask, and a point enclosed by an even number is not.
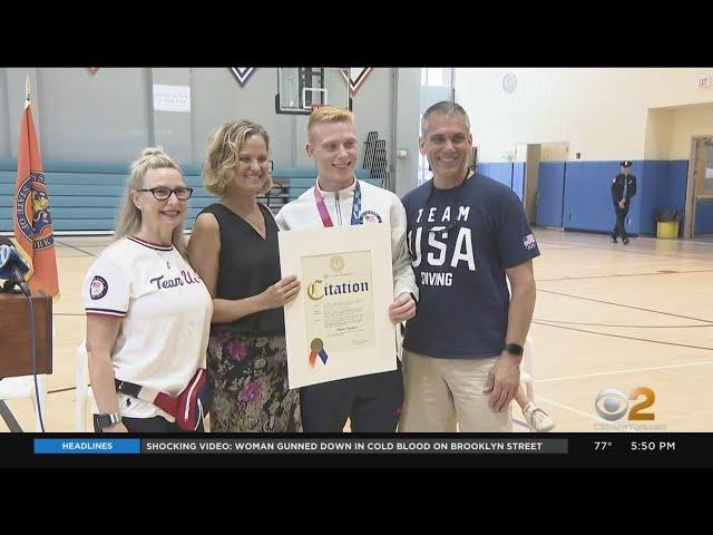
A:
[[[300,397],[287,385],[283,307],[300,281],[280,272],[277,225],[257,195],[272,186],[270,136],[248,120],[211,137],[203,179],[217,203],[198,217],[188,259],[213,296],[208,379],[211,431],[301,431]]]

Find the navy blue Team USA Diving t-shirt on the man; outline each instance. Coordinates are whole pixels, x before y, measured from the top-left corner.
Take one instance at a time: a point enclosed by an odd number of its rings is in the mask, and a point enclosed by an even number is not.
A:
[[[402,202],[419,285],[403,347],[437,358],[499,356],[510,303],[505,270],[539,255],[522,203],[481,174],[451,189],[431,179]]]

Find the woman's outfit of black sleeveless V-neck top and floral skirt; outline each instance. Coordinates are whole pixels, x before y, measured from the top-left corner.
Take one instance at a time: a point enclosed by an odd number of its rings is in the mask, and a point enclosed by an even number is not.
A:
[[[215,216],[221,228],[218,299],[257,295],[281,279],[277,225],[270,208],[258,206],[265,218],[265,239],[222,204],[203,210]],[[212,325],[207,356],[214,388],[211,431],[302,431],[299,391],[287,388],[284,329],[281,308]]]

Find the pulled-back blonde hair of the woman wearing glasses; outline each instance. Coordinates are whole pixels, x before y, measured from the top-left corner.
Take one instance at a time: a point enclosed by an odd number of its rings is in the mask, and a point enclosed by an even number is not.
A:
[[[149,169],[176,169],[183,176],[183,169],[168,156],[160,147],[146,147],[141,155],[131,164],[130,174],[126,181],[126,187],[121,196],[121,207],[119,208],[116,222],[114,240],[130,236],[141,228],[141,211],[134,204],[131,192],[141,189],[145,184],[146,173]],[[185,221],[185,220],[184,220]],[[185,257],[186,241],[183,235],[184,223],[182,222],[170,236],[170,241],[176,250]]]

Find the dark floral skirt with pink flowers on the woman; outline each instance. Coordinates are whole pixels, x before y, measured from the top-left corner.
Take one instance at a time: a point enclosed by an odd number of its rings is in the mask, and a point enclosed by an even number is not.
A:
[[[301,432],[300,392],[287,388],[285,337],[212,332],[212,432]]]

